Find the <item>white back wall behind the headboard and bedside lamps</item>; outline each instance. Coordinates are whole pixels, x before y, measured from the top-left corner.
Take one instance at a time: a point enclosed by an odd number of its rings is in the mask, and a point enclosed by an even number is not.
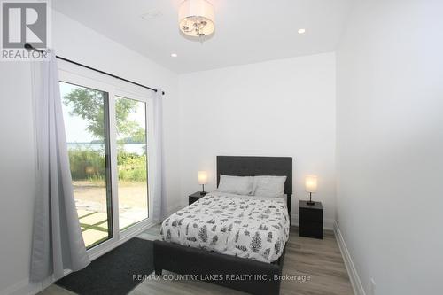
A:
[[[197,190],[198,170],[216,187],[215,157],[290,156],[296,198],[303,177],[319,177],[315,200],[329,226],[335,212],[335,56],[333,53],[183,74],[180,171],[183,203]],[[298,221],[298,220],[297,220]]]

